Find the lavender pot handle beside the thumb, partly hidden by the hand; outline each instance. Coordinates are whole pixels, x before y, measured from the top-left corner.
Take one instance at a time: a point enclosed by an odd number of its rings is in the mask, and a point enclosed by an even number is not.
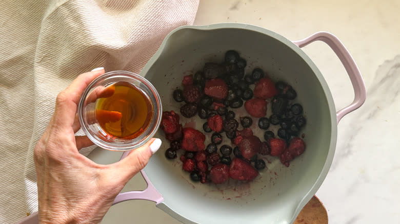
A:
[[[120,160],[124,159],[128,155],[129,151],[125,151],[122,154],[122,157]],[[147,183],[147,188],[143,191],[128,191],[124,193],[119,193],[112,205],[115,205],[117,203],[120,203],[125,200],[134,200],[134,199],[144,199],[144,200],[151,200],[154,201],[156,204],[161,203],[161,201],[164,200],[163,195],[161,195],[155,187],[151,184],[149,178],[147,177],[146,173],[144,170],[141,170],[142,176],[145,179]]]

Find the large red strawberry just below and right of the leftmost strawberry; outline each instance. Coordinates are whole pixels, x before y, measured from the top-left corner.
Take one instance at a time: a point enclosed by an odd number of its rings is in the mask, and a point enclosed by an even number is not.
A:
[[[185,127],[183,129],[183,140],[181,143],[181,147],[186,151],[200,151],[204,150],[204,141],[206,140],[206,136],[203,135],[202,132],[191,128]]]

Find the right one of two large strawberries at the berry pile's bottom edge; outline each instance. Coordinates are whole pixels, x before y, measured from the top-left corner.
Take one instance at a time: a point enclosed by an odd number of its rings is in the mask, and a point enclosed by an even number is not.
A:
[[[258,171],[242,159],[234,158],[229,167],[229,176],[234,180],[251,181],[258,175]]]

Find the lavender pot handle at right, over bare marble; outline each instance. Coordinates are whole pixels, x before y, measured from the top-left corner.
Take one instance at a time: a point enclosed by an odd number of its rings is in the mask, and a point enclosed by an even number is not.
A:
[[[339,121],[345,115],[357,109],[365,102],[367,91],[365,88],[364,79],[361,76],[361,73],[359,72],[358,67],[355,64],[353,57],[351,57],[349,51],[346,49],[343,43],[333,34],[328,32],[317,32],[305,39],[293,41],[293,43],[296,44],[299,48],[303,48],[304,46],[307,46],[309,43],[312,43],[316,40],[321,40],[325,42],[335,52],[337,57],[342,61],[343,65],[345,66],[347,74],[350,77],[351,84],[353,85],[353,102],[345,108],[336,111],[336,119],[337,123],[339,123]]]

